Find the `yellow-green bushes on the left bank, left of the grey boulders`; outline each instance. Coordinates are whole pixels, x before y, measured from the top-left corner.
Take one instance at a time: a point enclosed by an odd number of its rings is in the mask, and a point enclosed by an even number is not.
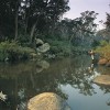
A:
[[[28,59],[31,53],[35,53],[30,47],[19,46],[15,42],[1,42],[0,43],[0,61],[20,61]]]

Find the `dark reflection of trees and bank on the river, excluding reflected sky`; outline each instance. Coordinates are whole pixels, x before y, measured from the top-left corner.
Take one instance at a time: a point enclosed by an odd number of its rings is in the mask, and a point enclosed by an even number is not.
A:
[[[96,95],[92,78],[96,74],[100,74],[100,69],[94,65],[94,70],[89,73],[89,65],[90,58],[85,55],[50,63],[37,61],[1,64],[0,90],[8,95],[8,105],[1,102],[0,110],[15,110],[16,107],[24,110],[30,98],[45,91],[56,92],[67,100],[69,95],[64,92],[62,85],[70,85],[84,96]],[[100,89],[105,94],[110,92],[110,88],[100,87]]]

